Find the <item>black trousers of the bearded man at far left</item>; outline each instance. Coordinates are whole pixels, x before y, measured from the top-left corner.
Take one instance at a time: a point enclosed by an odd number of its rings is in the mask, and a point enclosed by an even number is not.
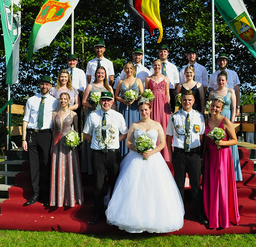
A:
[[[27,129],[26,141],[28,143],[30,174],[35,196],[39,195],[40,164],[42,178],[40,193],[42,192],[43,197],[49,197],[50,194],[51,138],[51,130],[36,133]]]

